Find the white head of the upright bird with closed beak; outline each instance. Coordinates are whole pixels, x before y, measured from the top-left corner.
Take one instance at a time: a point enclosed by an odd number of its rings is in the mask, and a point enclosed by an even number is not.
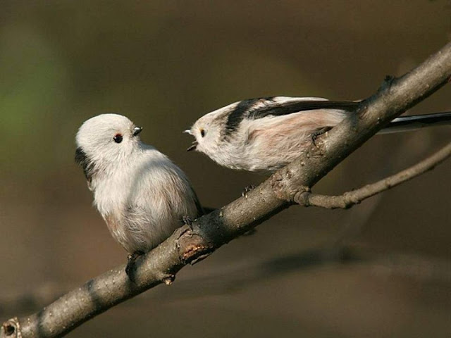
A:
[[[75,161],[82,166],[87,180],[138,149],[141,142],[137,135],[141,130],[142,127],[118,114],[101,114],[86,120],[75,138]]]

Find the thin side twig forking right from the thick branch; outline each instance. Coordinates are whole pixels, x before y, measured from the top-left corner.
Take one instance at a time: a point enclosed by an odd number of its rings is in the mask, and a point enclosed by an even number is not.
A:
[[[311,192],[304,192],[295,196],[295,202],[302,206],[321,206],[322,208],[335,209],[343,208],[347,209],[355,204],[359,204],[364,199],[368,199],[371,196],[385,192],[385,190],[396,187],[398,184],[412,180],[412,178],[426,173],[428,170],[435,168],[435,165],[445,161],[446,158],[451,156],[451,143],[444,146],[432,156],[424,159],[416,165],[400,171],[395,175],[386,177],[378,182],[367,184],[366,186],[352,190],[351,192],[345,192],[340,196],[326,196],[320,194],[313,194]]]

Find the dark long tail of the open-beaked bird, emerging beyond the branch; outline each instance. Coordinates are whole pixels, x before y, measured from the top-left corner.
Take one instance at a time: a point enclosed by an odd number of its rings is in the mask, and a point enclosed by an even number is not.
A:
[[[408,132],[422,127],[434,127],[438,125],[451,125],[451,112],[433,113],[424,115],[401,116],[395,118],[388,127],[385,127],[380,134],[390,132]]]

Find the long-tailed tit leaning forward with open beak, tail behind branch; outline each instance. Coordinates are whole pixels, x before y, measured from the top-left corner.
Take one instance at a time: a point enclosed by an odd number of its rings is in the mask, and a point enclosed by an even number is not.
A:
[[[338,125],[359,101],[275,96],[238,101],[199,118],[188,134],[197,150],[237,170],[273,172],[297,158],[312,137]],[[451,124],[451,113],[395,118],[382,132]]]

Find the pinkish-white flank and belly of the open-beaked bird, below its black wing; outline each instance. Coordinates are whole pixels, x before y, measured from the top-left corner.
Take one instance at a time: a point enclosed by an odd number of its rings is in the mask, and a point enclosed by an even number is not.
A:
[[[229,149],[218,152],[218,156],[222,157],[221,164],[229,168],[271,172],[292,162],[311,144],[314,132],[337,125],[345,114],[323,109],[242,120],[235,138],[230,137],[230,142],[223,144]],[[220,162],[216,158],[215,161]]]

